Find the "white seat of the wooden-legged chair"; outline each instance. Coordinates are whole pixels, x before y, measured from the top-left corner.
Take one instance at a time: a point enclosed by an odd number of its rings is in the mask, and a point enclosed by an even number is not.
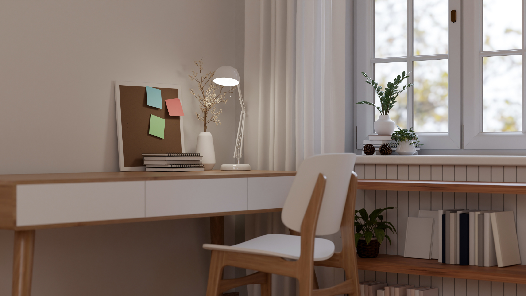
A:
[[[206,250],[219,250],[237,253],[259,254],[287,259],[299,259],[301,236],[287,234],[266,234],[235,245],[203,244]],[[315,238],[314,261],[323,261],[334,254],[334,243]]]

